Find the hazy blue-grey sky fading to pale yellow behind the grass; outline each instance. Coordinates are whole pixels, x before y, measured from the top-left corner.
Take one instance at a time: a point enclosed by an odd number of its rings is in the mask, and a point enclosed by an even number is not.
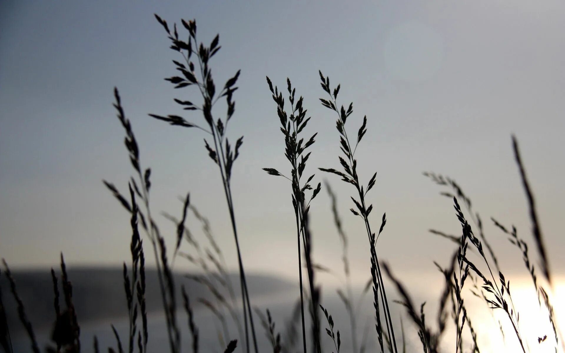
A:
[[[198,92],[175,90],[163,80],[174,75],[171,60],[179,54],[168,49],[154,13],[169,24],[196,19],[205,43],[220,34],[221,50],[211,61],[216,85],[241,69],[228,136],[245,136],[232,189],[247,271],[294,278],[297,264],[290,185],[261,170],[289,170],[269,76],[281,88],[289,77],[304,97],[312,116],[305,132],[318,132],[306,173],[327,179],[336,191],[354,281],[368,277],[367,237],[349,212],[354,190],[317,169],[339,167],[335,116],[318,100],[324,97],[321,69],[332,86],[341,84],[338,102],[354,102],[349,130],[357,131],[367,115],[356,156],[362,180],[377,172],[368,199],[373,228],[384,212],[388,219],[377,243],[381,260],[405,278],[438,275],[433,260],[447,264],[454,246],[428,229],[459,235],[460,225],[453,201],[439,195],[449,190],[422,175],[434,171],[457,180],[471,197],[503,268],[527,275],[519,250],[489,221],[494,216],[516,225],[537,265],[511,149],[514,133],[551,269],[557,276],[565,272],[565,3],[551,0],[511,6],[497,0],[3,1],[0,256],[13,267],[56,265],[60,251],[75,265],[118,265],[129,258],[128,214],[102,184],[105,179],[126,192],[133,172],[112,107],[117,86],[142,164],[153,171],[151,207],[170,246],[174,229],[159,213],[180,217],[178,197],[190,192],[236,268],[221,180],[203,132],[147,116],[179,114],[203,123],[173,102],[198,101]],[[187,225],[197,233],[193,217]],[[312,203],[311,230],[315,262],[341,273],[325,190]]]

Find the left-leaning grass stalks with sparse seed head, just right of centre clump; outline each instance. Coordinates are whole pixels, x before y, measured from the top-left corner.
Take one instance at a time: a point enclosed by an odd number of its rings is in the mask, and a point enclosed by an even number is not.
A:
[[[333,92],[329,85],[329,77],[324,77],[324,75],[320,73],[320,80],[321,80],[321,87],[322,89],[329,95],[329,100],[320,98],[320,102],[324,107],[327,107],[338,115],[338,119],[336,122],[337,131],[340,133],[340,149],[343,152],[345,159],[341,156],[338,156],[340,160],[341,167],[344,172],[337,171],[333,168],[319,168],[321,171],[333,173],[338,175],[342,178],[343,181],[353,185],[358,193],[358,199],[351,197],[351,200],[355,204],[354,208],[351,208],[351,212],[355,216],[359,216],[363,219],[363,223],[365,225],[367,231],[367,237],[369,239],[369,246],[371,251],[371,276],[373,278],[373,297],[374,297],[374,306],[375,306],[375,313],[376,313],[376,329],[377,335],[379,337],[379,344],[381,351],[384,351],[383,346],[383,339],[382,332],[383,329],[381,328],[380,324],[380,305],[383,306],[383,313],[385,318],[386,324],[386,333],[389,339],[389,342],[392,342],[393,352],[397,353],[398,349],[396,346],[396,338],[394,337],[394,328],[392,319],[390,318],[390,310],[388,305],[388,300],[386,299],[386,291],[383,283],[383,276],[381,274],[379,259],[377,258],[375,243],[379,238],[381,232],[383,232],[384,225],[386,223],[386,215],[383,215],[383,220],[381,222],[381,226],[379,229],[379,233],[375,236],[375,233],[371,231],[371,224],[369,222],[369,215],[373,210],[373,205],[369,204],[367,206],[366,202],[366,195],[367,193],[373,188],[375,185],[375,180],[377,173],[375,173],[371,179],[369,180],[366,186],[362,185],[359,181],[359,176],[357,174],[357,159],[354,158],[355,151],[357,150],[357,146],[359,142],[362,140],[364,134],[367,132],[367,116],[363,117],[363,124],[359,128],[357,133],[357,138],[355,140],[350,141],[349,137],[347,136],[347,132],[345,130],[345,123],[347,121],[347,117],[353,114],[353,103],[349,104],[347,110],[342,105],[341,109],[338,109],[338,104],[336,102],[337,95],[340,92],[341,85],[337,85],[336,88],[333,89]],[[353,144],[353,141],[354,144]],[[381,297],[381,304],[379,304],[379,293]]]

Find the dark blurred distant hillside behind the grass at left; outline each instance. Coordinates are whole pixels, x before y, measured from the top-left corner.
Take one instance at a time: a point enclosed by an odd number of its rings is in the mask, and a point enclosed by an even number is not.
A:
[[[25,304],[26,313],[33,326],[37,329],[51,326],[55,320],[55,311],[50,270],[12,271],[12,276],[16,281],[18,293]],[[121,268],[69,268],[68,276],[73,285],[73,303],[79,323],[127,315]],[[231,274],[229,278],[232,280],[234,293],[238,298],[241,294],[239,276]],[[146,269],[146,282],[147,312],[161,311],[162,302],[155,269]],[[186,287],[189,297],[193,299],[195,310],[198,310],[199,307],[195,299],[199,297],[211,299],[210,292],[203,285],[189,280],[184,277],[184,274],[175,274],[175,284],[177,286],[179,310],[182,310],[181,284]],[[254,297],[295,290],[296,286],[284,278],[263,274],[247,274],[247,285]],[[2,300],[7,311],[8,327],[16,331],[23,329],[19,323],[16,303],[10,293],[10,287],[5,276],[0,277],[0,287],[2,289]],[[60,305],[64,307],[63,298],[60,298]]]

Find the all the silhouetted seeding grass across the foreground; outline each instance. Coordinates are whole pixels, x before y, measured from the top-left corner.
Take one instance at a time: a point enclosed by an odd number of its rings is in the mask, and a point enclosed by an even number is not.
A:
[[[131,225],[131,240],[129,249],[131,252],[131,263],[123,263],[123,289],[125,294],[124,315],[128,317],[127,337],[120,337],[118,330],[112,325],[112,334],[115,336],[116,342],[114,347],[106,347],[108,352],[148,352],[147,344],[151,339],[149,331],[147,308],[146,308],[146,288],[155,284],[148,283],[145,278],[145,245],[149,241],[150,249],[155,258],[157,266],[157,285],[159,287],[160,297],[162,299],[162,310],[166,324],[167,345],[162,347],[162,351],[170,351],[178,353],[181,351],[192,351],[197,353],[204,351],[206,348],[201,347],[200,342],[202,333],[198,328],[198,323],[194,315],[193,303],[198,302],[209,310],[215,317],[217,322],[217,333],[219,346],[221,351],[233,352],[238,347],[247,353],[250,351],[259,351],[259,337],[254,325],[254,317],[259,318],[265,337],[271,349],[275,353],[279,352],[296,352],[302,350],[306,353],[308,350],[316,353],[324,351],[324,344],[321,337],[320,310],[324,314],[327,321],[325,332],[331,339],[331,343],[335,352],[344,351],[342,346],[342,338],[340,330],[337,330],[342,323],[334,323],[330,312],[332,308],[321,306],[321,285],[316,283],[317,271],[328,271],[312,259],[312,233],[308,222],[308,212],[310,211],[311,202],[316,195],[320,193],[321,183],[316,185],[315,175],[303,178],[306,170],[306,164],[310,160],[312,147],[315,143],[316,133],[305,134],[305,128],[310,121],[307,116],[307,110],[303,106],[305,99],[299,97],[295,99],[295,88],[293,88],[289,79],[286,86],[288,91],[288,102],[286,105],[283,98],[283,92],[279,91],[277,86],[273,87],[271,80],[267,77],[268,88],[272,94],[273,101],[276,103],[277,117],[280,121],[280,130],[284,137],[285,157],[290,163],[288,172],[279,172],[282,169],[264,168],[268,174],[273,176],[285,177],[290,182],[290,195],[292,199],[292,207],[295,215],[297,239],[297,265],[298,265],[298,282],[299,282],[299,301],[297,305],[290,310],[292,317],[290,321],[285,323],[284,330],[279,332],[270,310],[260,310],[251,303],[251,294],[247,286],[244,263],[240,248],[240,234],[238,234],[235,217],[235,206],[232,194],[232,169],[234,162],[240,155],[240,147],[243,143],[243,137],[240,137],[232,144],[228,140],[227,130],[228,122],[231,120],[235,112],[234,91],[240,75],[238,71],[233,77],[227,80],[221,90],[216,91],[215,81],[211,73],[211,59],[218,53],[219,36],[216,36],[209,45],[197,42],[197,26],[194,20],[181,20],[182,27],[188,32],[187,41],[183,41],[179,36],[177,25],[173,24],[169,27],[167,21],[155,15],[158,23],[162,25],[171,41],[171,49],[179,53],[180,60],[173,60],[175,69],[179,76],[168,77],[166,80],[175,85],[175,88],[189,88],[197,91],[199,103],[191,98],[191,101],[174,99],[184,110],[202,114],[204,124],[198,125],[186,120],[178,115],[157,115],[150,114],[151,117],[166,121],[171,125],[182,128],[197,128],[207,134],[205,139],[206,153],[216,167],[218,168],[221,188],[219,193],[223,193],[225,202],[229,211],[229,222],[232,226],[234,237],[233,251],[237,255],[239,285],[241,290],[241,311],[238,306],[236,290],[232,284],[231,277],[228,272],[228,264],[224,259],[224,249],[222,249],[212,233],[210,221],[203,216],[190,200],[188,193],[181,197],[180,217],[162,213],[164,219],[175,225],[176,234],[175,242],[168,245],[160,233],[157,219],[154,218],[150,207],[150,191],[151,191],[151,169],[143,168],[140,159],[140,147],[138,146],[136,137],[133,132],[131,121],[126,117],[125,110],[121,102],[118,89],[115,89],[115,103],[118,120],[125,132],[125,146],[128,151],[131,167],[133,168],[133,176],[128,180],[128,192],[122,193],[114,184],[103,181],[103,184],[121,206],[128,212],[128,220]],[[357,130],[357,136],[351,134],[349,125],[346,122],[354,119],[353,103],[346,108],[344,105],[339,106],[337,103],[338,94],[340,93],[340,85],[332,87],[329,77],[319,72],[320,84],[327,97],[320,98],[320,102],[324,107],[329,108],[337,114],[336,128],[339,137],[339,146],[342,154],[337,156],[340,167],[335,168],[319,168],[323,172],[337,175],[342,181],[350,184],[353,189],[353,195],[350,199],[353,207],[350,208],[351,213],[364,225],[365,234],[368,239],[367,259],[369,260],[369,269],[367,277],[370,280],[364,287],[359,298],[355,298],[351,289],[351,271],[348,253],[348,237],[342,227],[340,215],[337,212],[337,195],[326,183],[326,189],[331,198],[331,211],[333,222],[336,226],[337,233],[342,246],[341,263],[345,276],[342,287],[337,290],[338,297],[344,304],[347,315],[349,316],[350,325],[350,343],[351,352],[362,353],[366,350],[366,337],[358,342],[359,328],[359,311],[362,306],[362,298],[372,287],[373,292],[373,308],[375,319],[375,332],[373,333],[378,342],[380,352],[397,353],[400,347],[402,352],[406,352],[405,328],[402,317],[395,322],[390,310],[390,306],[395,303],[401,304],[406,311],[406,317],[414,324],[421,343],[421,351],[429,353],[437,353],[442,351],[441,342],[446,337],[449,329],[454,330],[455,346],[450,349],[456,353],[471,351],[480,352],[481,347],[477,337],[481,334],[495,335],[495,332],[481,332],[479,326],[473,326],[473,313],[468,310],[468,298],[479,298],[481,302],[486,304],[489,311],[498,311],[503,313],[503,319],[511,326],[511,332],[500,326],[500,333],[507,339],[515,339],[524,353],[534,351],[527,343],[526,337],[532,333],[524,332],[520,325],[520,308],[517,307],[512,298],[510,279],[507,278],[501,268],[504,264],[499,263],[496,250],[490,245],[488,237],[483,226],[483,222],[478,212],[473,210],[470,197],[468,197],[461,186],[449,177],[444,177],[432,172],[425,172],[424,175],[432,180],[441,188],[446,188],[441,192],[442,195],[453,199],[455,215],[460,222],[460,234],[447,234],[441,230],[431,229],[430,232],[437,236],[446,238],[450,242],[457,243],[457,249],[449,258],[447,267],[442,267],[437,262],[436,267],[444,279],[444,288],[437,299],[438,312],[435,323],[431,324],[425,313],[426,307],[424,303],[416,303],[411,297],[407,286],[394,274],[394,269],[389,264],[379,261],[377,254],[376,242],[380,234],[384,230],[386,224],[386,214],[379,217],[377,224],[378,232],[373,231],[375,223],[370,218],[373,205],[368,198],[368,192],[376,183],[376,173],[371,177],[358,175],[358,160],[355,158],[355,152],[359,143],[367,133],[367,116],[363,117],[360,128]],[[285,93],[286,94],[286,93]],[[201,98],[201,101],[200,101]],[[224,119],[216,119],[216,103],[221,98],[225,98],[226,115]],[[213,110],[216,106],[216,110]],[[333,113],[332,113],[333,114]],[[347,132],[350,134],[348,135]],[[308,136],[311,136],[308,138]],[[232,140],[233,141],[233,140]],[[501,222],[492,218],[493,225],[499,232],[508,237],[513,249],[518,250],[522,257],[525,268],[529,276],[532,278],[532,284],[537,293],[538,307],[542,312],[547,312],[547,322],[550,323],[553,332],[542,335],[537,338],[539,345],[553,345],[555,352],[565,351],[563,334],[561,328],[557,324],[557,318],[553,310],[553,304],[548,293],[553,291],[553,278],[550,271],[549,259],[545,249],[545,242],[541,232],[541,225],[538,220],[536,204],[532,188],[529,184],[524,162],[521,159],[518,142],[512,136],[512,149],[516,164],[518,165],[518,173],[521,179],[526,204],[529,211],[529,220],[532,227],[532,238],[536,246],[537,255],[541,260],[541,274],[539,277],[534,267],[532,254],[529,252],[528,242],[523,236],[518,235],[518,229],[515,226],[505,226]],[[360,163],[360,162],[359,162]],[[307,174],[306,174],[307,175]],[[306,179],[306,181],[305,181]],[[368,180],[364,184],[362,180]],[[312,184],[311,184],[312,183]],[[314,185],[316,185],[314,187]],[[313,204],[312,204],[313,205]],[[462,205],[464,207],[462,207]],[[318,205],[319,206],[319,205]],[[447,210],[446,210],[447,211]],[[447,213],[447,212],[446,212]],[[190,221],[192,215],[195,221]],[[409,216],[407,216],[409,217]],[[218,220],[222,221],[222,220]],[[192,223],[191,223],[192,222]],[[206,242],[199,242],[193,236],[194,224],[202,229],[206,236]],[[185,243],[184,249],[181,251],[181,244]],[[188,250],[185,250],[187,249]],[[168,249],[168,250],[167,250]],[[181,306],[186,311],[188,322],[186,329],[190,336],[190,346],[181,347],[181,325],[179,324],[177,315],[177,284],[173,277],[175,265],[178,264],[178,258],[185,259],[193,267],[200,270],[199,274],[187,276],[187,281],[180,287]],[[305,266],[302,261],[304,260]],[[306,268],[307,285],[303,284],[302,268]],[[68,277],[66,264],[63,255],[60,259],[60,276],[51,269],[51,279],[53,281],[53,309],[54,309],[54,325],[50,337],[51,342],[44,348],[45,352],[80,352],[85,350],[83,339],[81,339],[81,331],[79,318],[73,304],[73,287],[71,279]],[[7,308],[3,305],[2,295],[7,291],[0,288],[0,346],[6,352],[13,352],[10,335],[10,327],[8,327],[6,319],[6,311],[16,310],[18,317],[24,326],[25,332],[29,337],[29,347],[33,352],[41,352],[37,342],[33,325],[28,319],[25,310],[25,303],[18,294],[16,281],[12,276],[10,268],[6,262],[3,262],[3,271],[0,276],[5,276],[9,284],[9,291],[15,299],[16,308]],[[389,281],[384,281],[384,277]],[[186,286],[201,285],[207,290],[207,297],[190,298],[186,290]],[[396,289],[399,300],[393,300],[390,295],[390,285]],[[387,296],[387,289],[389,295]],[[117,299],[117,298],[116,298]],[[308,302],[308,310],[310,312],[310,330],[306,329],[305,302]],[[366,308],[367,310],[367,308]],[[243,323],[241,323],[241,316]],[[384,324],[383,324],[384,321]],[[298,322],[301,328],[297,328]],[[334,324],[335,329],[334,329]],[[401,327],[402,341],[400,336],[395,333],[395,328]],[[230,326],[237,328],[237,333],[229,332]],[[184,326],[184,325],[183,325]],[[110,328],[108,328],[108,333]],[[324,337],[326,338],[326,337]],[[90,339],[90,338],[87,338]],[[326,338],[327,339],[327,338]],[[347,340],[345,337],[344,342]],[[398,343],[397,343],[398,341]],[[310,347],[308,347],[310,342]],[[400,343],[402,342],[402,345]],[[301,348],[297,348],[301,346]],[[92,348],[95,352],[99,352],[99,342],[97,337],[92,338]],[[482,350],[485,348],[483,347]],[[104,349],[103,349],[104,350]]]

